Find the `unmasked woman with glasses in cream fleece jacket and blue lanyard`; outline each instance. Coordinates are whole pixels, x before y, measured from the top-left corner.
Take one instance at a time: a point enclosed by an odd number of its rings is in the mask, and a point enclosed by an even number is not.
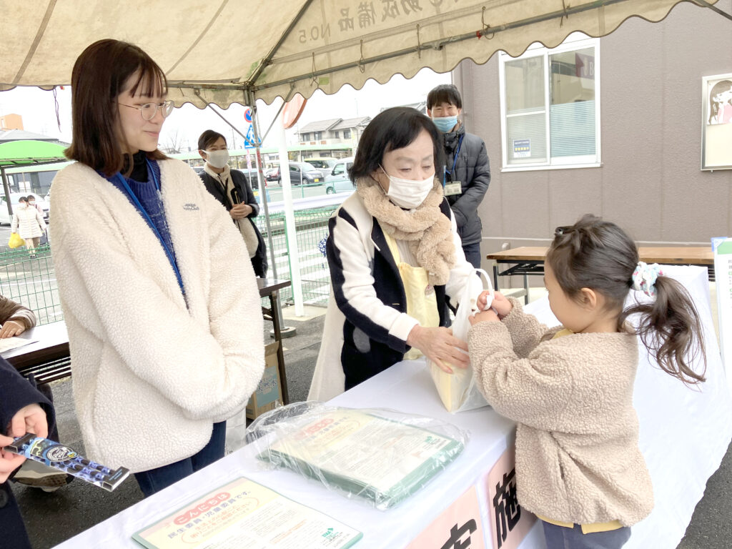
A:
[[[71,85],[76,162],[53,181],[52,231],[76,412],[86,454],[149,496],[223,457],[264,370],[259,294],[231,217],[157,149],[163,70],[100,40]]]

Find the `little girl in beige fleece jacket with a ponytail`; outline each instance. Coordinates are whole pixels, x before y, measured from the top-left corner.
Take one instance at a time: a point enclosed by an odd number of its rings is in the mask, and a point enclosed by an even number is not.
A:
[[[683,286],[592,215],[556,230],[544,272],[562,326],[546,329],[496,293],[471,320],[471,362],[488,403],[518,422],[518,501],[543,521],[548,549],[620,548],[653,508],[632,407],[635,334],[663,370],[695,384],[701,324]],[[655,300],[624,309],[631,288]],[[626,323],[634,313],[637,331]]]

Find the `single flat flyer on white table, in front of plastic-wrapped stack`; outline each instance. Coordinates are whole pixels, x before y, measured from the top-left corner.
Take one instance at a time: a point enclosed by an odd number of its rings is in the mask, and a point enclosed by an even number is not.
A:
[[[346,549],[362,535],[242,477],[132,539],[148,549]]]

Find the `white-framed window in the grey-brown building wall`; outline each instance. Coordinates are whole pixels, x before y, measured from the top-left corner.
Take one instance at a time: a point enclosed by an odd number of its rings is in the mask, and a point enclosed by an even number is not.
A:
[[[504,168],[600,165],[599,41],[581,36],[501,53]]]

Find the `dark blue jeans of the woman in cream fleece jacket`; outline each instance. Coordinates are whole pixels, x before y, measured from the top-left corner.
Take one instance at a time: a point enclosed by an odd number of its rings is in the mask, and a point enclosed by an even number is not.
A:
[[[190,458],[185,458],[170,465],[135,473],[140,490],[145,497],[168,488],[174,482],[184,479],[191,473],[211,465],[224,457],[224,442],[226,438],[226,422],[214,423],[211,439],[206,446]]]

